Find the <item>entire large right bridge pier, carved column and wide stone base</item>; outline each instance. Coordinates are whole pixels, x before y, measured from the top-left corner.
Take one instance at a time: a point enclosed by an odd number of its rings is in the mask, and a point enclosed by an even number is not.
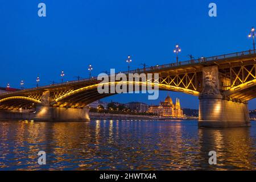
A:
[[[217,66],[203,68],[199,100],[199,127],[250,126],[247,104],[225,100],[221,95]]]

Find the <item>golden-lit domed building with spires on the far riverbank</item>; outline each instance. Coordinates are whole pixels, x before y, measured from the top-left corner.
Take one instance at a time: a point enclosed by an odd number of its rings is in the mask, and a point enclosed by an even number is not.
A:
[[[180,108],[180,100],[176,98],[176,103],[172,103],[172,98],[168,95],[164,102],[159,105],[152,105],[148,113],[158,114],[163,117],[183,117],[183,110]]]

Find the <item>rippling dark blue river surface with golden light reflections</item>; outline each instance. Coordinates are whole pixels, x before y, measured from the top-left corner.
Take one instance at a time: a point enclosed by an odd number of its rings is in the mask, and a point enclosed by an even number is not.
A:
[[[0,170],[256,169],[256,123],[198,129],[196,121],[0,122]],[[47,165],[39,166],[38,152]],[[208,152],[217,152],[217,165]]]

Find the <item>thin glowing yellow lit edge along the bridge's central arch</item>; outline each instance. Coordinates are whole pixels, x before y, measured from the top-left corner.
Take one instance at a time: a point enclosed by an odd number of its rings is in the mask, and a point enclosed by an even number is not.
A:
[[[69,96],[72,96],[73,94],[76,94],[76,93],[80,93],[80,92],[83,92],[85,90],[89,90],[89,89],[92,89],[92,88],[97,88],[97,86],[101,86],[101,85],[110,85],[110,84],[127,84],[127,86],[129,84],[138,84],[138,85],[151,85],[151,86],[158,86],[159,89],[165,89],[165,90],[171,90],[171,91],[174,91],[174,92],[183,92],[183,93],[187,93],[187,94],[191,94],[193,96],[199,96],[199,92],[195,91],[195,90],[191,90],[191,89],[186,89],[186,88],[181,88],[179,86],[172,86],[172,85],[167,85],[167,84],[158,84],[158,83],[154,83],[154,82],[140,82],[140,81],[118,81],[118,82],[108,82],[108,83],[100,83],[100,84],[94,84],[94,85],[90,85],[90,86],[85,86],[83,88],[80,88],[80,89],[76,89],[76,90],[73,90],[67,94],[64,94],[63,96],[59,97],[59,98],[56,98],[55,99],[55,102],[58,102],[60,100],[63,100],[64,98],[67,98]],[[127,90],[128,92],[129,90]]]

